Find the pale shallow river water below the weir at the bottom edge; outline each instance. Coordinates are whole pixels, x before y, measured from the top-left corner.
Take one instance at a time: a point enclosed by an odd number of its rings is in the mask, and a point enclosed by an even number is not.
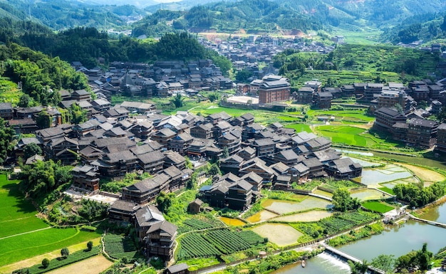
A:
[[[305,268],[301,264],[286,265],[284,268],[276,270],[273,274],[349,274],[348,264],[328,253],[321,253],[316,257],[306,260]]]

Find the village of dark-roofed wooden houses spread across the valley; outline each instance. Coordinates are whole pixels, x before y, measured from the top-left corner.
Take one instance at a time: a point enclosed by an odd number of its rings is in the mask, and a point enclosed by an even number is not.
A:
[[[277,39],[264,39],[279,46]],[[73,62],[73,68],[88,76],[91,93],[61,90],[58,107],[13,107],[9,102],[0,103],[0,117],[14,127],[17,135],[24,135],[6,164],[14,167],[14,163],[22,161],[33,165],[52,159],[73,166],[71,193],[83,198],[111,198],[108,220],[130,224],[142,243],[145,258],[162,258],[165,266],[170,266],[175,263],[179,228],[166,220],[155,201],[160,194],[184,190],[194,173],[210,184],[200,186],[197,199],[190,201],[191,214],[213,209],[243,213],[260,201],[262,189],[308,195],[312,191],[301,191],[295,186],[320,179],[350,181],[361,177],[361,162],[344,157],[332,147],[328,137],[296,132],[281,122],[256,122],[251,110],[286,112],[289,107],[302,105],[329,110],[333,100],[354,98],[356,104],[343,107],[359,105],[368,109],[375,117],[373,130],[385,132],[408,147],[433,149],[437,154],[446,152],[446,124],[429,119],[444,111],[446,80],[414,80],[408,86],[353,83],[335,88],[323,87],[318,79],[313,79],[292,90],[290,80],[277,75],[272,65],[260,70],[256,63],[271,62],[276,51],[264,52],[271,47],[257,48],[262,54],[250,57],[224,52],[237,42],[227,47],[219,43],[222,54],[231,58],[234,70],[252,71],[254,78],[250,83],[234,83],[211,60],[157,61],[153,65],[115,62],[107,71],[87,69],[80,62]],[[330,51],[313,45],[315,48],[308,51]],[[207,100],[203,92],[224,90],[232,90],[233,95],[225,94],[219,105],[244,110],[244,114],[234,116],[223,111],[204,116],[179,110],[167,115],[155,104],[132,100],[171,100],[175,96]],[[115,95],[128,100],[112,104]],[[424,109],[419,107],[421,104]],[[73,105],[85,112],[86,122],[67,123],[61,110]],[[39,119],[42,115],[49,121],[46,126]],[[317,120],[329,125],[334,117],[322,115]],[[42,153],[25,157],[24,150],[30,144],[37,144]],[[209,162],[224,175],[197,172]],[[100,179],[119,180],[130,173],[146,173],[150,177],[115,194],[100,190]],[[366,214],[361,218],[368,223],[375,221],[375,217]],[[187,266],[174,265],[168,271],[183,273]]]

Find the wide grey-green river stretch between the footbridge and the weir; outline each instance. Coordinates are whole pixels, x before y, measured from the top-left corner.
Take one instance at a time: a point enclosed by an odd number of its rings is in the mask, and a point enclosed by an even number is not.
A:
[[[423,243],[427,249],[437,253],[446,246],[446,228],[432,226],[418,221],[408,221],[400,226],[393,226],[370,238],[338,247],[343,252],[371,261],[380,254],[395,255],[398,258],[412,250],[419,250]]]

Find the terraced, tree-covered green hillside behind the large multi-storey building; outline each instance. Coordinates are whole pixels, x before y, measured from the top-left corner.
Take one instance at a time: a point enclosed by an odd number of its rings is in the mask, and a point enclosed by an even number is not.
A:
[[[361,44],[338,45],[328,55],[287,50],[274,56],[274,66],[296,88],[311,79],[328,86],[354,82],[406,83],[435,72],[438,61],[438,54],[414,48]],[[308,70],[310,66],[312,69]]]

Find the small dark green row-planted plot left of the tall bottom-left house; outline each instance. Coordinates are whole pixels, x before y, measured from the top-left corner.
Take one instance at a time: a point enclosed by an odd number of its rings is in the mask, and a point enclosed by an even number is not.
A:
[[[111,258],[128,258],[129,260],[139,257],[139,253],[131,238],[115,234],[104,236],[105,252]]]

